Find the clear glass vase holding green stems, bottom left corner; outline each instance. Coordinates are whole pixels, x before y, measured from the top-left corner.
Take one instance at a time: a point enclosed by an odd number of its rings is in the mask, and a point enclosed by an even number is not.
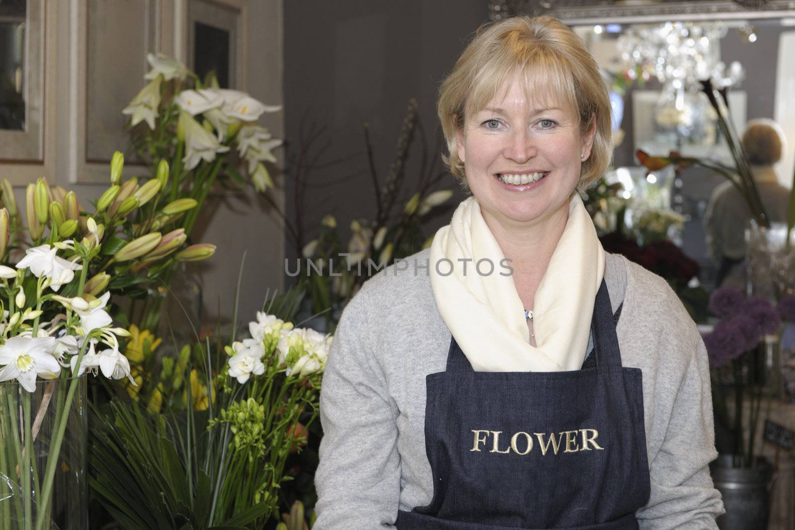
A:
[[[86,388],[85,376],[32,393],[0,383],[0,528],[88,528]]]

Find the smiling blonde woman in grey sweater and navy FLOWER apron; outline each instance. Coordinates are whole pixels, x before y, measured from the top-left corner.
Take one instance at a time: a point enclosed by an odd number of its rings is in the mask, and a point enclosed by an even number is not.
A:
[[[491,25],[438,112],[473,197],[343,311],[314,528],[716,528],[704,344],[576,193],[612,147],[583,43]]]

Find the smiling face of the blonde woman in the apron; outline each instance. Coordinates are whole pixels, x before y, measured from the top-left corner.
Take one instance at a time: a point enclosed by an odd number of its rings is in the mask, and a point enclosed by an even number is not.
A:
[[[572,110],[528,101],[518,76],[497,94],[467,116],[456,135],[467,184],[484,219],[506,226],[566,219],[595,126],[582,135]]]

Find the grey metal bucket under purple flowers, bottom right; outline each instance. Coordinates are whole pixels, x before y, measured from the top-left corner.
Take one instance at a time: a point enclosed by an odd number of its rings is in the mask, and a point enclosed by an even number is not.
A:
[[[710,464],[715,489],[723,495],[726,513],[718,517],[721,530],[765,530],[770,515],[773,466],[757,457],[754,467],[732,467],[731,455],[719,455]]]

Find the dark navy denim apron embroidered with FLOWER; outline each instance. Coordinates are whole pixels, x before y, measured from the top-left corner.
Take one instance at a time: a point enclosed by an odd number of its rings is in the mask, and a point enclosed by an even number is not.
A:
[[[650,495],[642,373],[621,366],[604,281],[591,331],[595,367],[569,372],[475,372],[451,340],[446,371],[426,379],[433,499],[397,528],[638,528]]]

